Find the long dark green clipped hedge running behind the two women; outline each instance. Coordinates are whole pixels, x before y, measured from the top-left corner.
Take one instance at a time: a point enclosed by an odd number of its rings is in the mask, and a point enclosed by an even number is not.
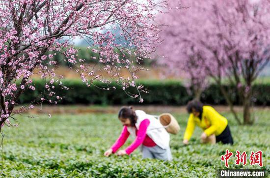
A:
[[[192,99],[192,93],[178,81],[138,81],[149,93],[141,93],[144,102],[142,104],[151,105],[186,105]],[[25,91],[20,96],[20,103],[29,103],[36,98],[40,98],[40,93],[44,91],[44,81],[35,80],[34,91]],[[64,86],[68,90],[61,89],[59,85],[54,85],[56,95],[64,96],[59,104],[101,104],[101,105],[135,105],[139,104],[138,98],[128,96],[121,86],[112,83],[109,87],[116,89],[107,90],[108,86],[96,82],[96,87],[87,87],[81,80],[64,80]],[[233,86],[225,86],[230,93],[235,105],[241,104],[239,96]],[[102,88],[102,89],[99,89]],[[104,88],[104,89],[103,89]],[[135,94],[135,88],[126,91]],[[48,92],[48,91],[47,91]],[[257,84],[253,87],[252,102],[254,105],[270,105],[270,84]],[[45,95],[46,96],[46,95]],[[46,97],[45,97],[46,98]],[[48,97],[47,97],[48,98]],[[201,101],[207,104],[226,104],[226,101],[216,85],[211,85],[202,92]]]

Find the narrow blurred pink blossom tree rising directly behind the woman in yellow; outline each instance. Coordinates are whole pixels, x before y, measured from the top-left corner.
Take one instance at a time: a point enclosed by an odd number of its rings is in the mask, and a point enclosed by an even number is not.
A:
[[[191,89],[196,99],[200,99],[201,92],[208,86],[208,81],[200,64],[203,51],[190,41],[191,36],[186,36],[195,30],[189,23],[194,20],[193,14],[189,7],[183,6],[179,1],[169,2],[170,10],[157,18],[158,22],[165,25],[160,33],[164,41],[158,47],[158,54],[164,59],[160,58],[158,64],[168,68],[165,75],[174,75],[184,80],[186,88]],[[182,27],[186,24],[189,24],[189,28]]]

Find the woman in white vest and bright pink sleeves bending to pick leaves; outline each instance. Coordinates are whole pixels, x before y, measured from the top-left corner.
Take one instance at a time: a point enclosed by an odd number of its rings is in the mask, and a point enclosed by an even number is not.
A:
[[[132,107],[122,107],[118,113],[118,119],[123,124],[123,130],[115,143],[104,153],[109,156],[122,147],[130,135],[135,136],[135,141],[116,154],[130,155],[141,146],[143,158],[157,158],[171,160],[169,147],[170,136],[160,121],[144,111],[134,111]]]

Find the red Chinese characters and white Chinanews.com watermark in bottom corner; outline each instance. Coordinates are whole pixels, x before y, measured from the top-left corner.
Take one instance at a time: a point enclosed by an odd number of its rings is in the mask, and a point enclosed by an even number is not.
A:
[[[266,178],[267,171],[266,169],[229,169],[229,159],[233,157],[234,153],[226,149],[224,155],[221,155],[220,160],[224,162],[225,169],[218,169],[217,175],[219,178]],[[249,163],[249,165],[258,165],[261,168],[263,167],[263,151],[251,151],[248,156],[245,151],[242,153],[239,150],[236,150],[235,154],[235,165],[243,165]],[[249,160],[247,160],[247,157]]]

